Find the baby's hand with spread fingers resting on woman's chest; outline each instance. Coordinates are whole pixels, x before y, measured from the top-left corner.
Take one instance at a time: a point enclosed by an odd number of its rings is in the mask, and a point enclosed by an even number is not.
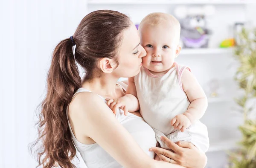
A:
[[[128,101],[129,98],[126,96],[123,96],[121,98],[116,98],[116,99],[112,99],[112,98],[106,98],[107,101],[107,105],[108,107],[111,108],[111,110],[113,111],[114,114],[116,114],[116,110],[118,108],[122,109],[124,111],[125,116],[128,113]]]

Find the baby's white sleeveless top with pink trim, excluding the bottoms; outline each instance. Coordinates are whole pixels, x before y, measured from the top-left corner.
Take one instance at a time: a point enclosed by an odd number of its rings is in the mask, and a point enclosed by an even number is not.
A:
[[[184,113],[190,104],[181,84],[183,71],[190,69],[174,64],[175,67],[164,75],[154,75],[141,67],[140,73],[134,77],[140,114],[151,127],[166,136],[175,131],[170,124],[172,118]]]

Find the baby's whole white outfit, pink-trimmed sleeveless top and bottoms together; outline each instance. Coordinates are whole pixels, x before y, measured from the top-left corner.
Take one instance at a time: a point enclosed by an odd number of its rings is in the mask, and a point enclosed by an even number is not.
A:
[[[140,114],[154,129],[156,140],[162,148],[169,149],[160,139],[160,136],[167,136],[173,142],[191,142],[198,149],[206,152],[209,148],[208,131],[199,120],[183,133],[175,130],[170,124],[171,120],[178,114],[184,113],[190,104],[181,84],[183,71],[190,69],[174,64],[175,67],[164,75],[154,75],[145,67],[141,67],[140,73],[134,77]]]

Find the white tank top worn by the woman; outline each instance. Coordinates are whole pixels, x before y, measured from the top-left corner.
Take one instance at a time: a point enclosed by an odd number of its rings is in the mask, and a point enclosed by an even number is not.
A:
[[[121,86],[124,90],[127,87],[127,85],[122,82],[119,82],[118,85]],[[75,95],[80,92],[90,91],[84,88],[80,88],[75,93]],[[102,96],[100,97],[102,98],[102,101],[105,101],[105,98]],[[131,136],[133,136],[134,140],[140,145],[143,151],[145,151],[145,153],[147,153],[151,158],[154,158],[154,153],[149,152],[148,149],[156,146],[155,134],[153,129],[143,120],[143,118],[135,116],[132,113],[128,113],[128,115],[125,116],[123,110],[118,110],[116,113],[116,119],[122,124],[123,127],[128,130],[128,132],[131,134]],[[69,122],[68,125],[70,127]],[[72,140],[77,149],[76,155],[80,160],[80,162],[77,160],[77,158],[74,158],[73,160],[73,163],[77,166],[77,168],[122,168],[122,165],[116,162],[116,160],[113,159],[113,157],[111,157],[97,143],[90,145],[82,144],[74,136],[71,127],[70,132]]]

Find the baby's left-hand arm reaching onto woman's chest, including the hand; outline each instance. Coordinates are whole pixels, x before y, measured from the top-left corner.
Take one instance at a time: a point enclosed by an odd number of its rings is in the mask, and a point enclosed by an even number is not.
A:
[[[117,99],[107,98],[108,107],[116,113],[118,108],[124,110],[125,116],[128,112],[132,113],[140,109],[140,104],[137,99],[137,91],[134,84],[134,77],[128,78],[128,87],[125,96]]]

